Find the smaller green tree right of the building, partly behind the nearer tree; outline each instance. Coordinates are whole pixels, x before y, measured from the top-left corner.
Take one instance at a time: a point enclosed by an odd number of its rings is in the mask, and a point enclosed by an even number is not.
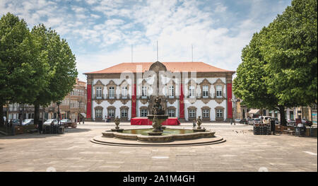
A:
[[[284,114],[284,106],[281,109],[276,96],[269,93],[265,81],[267,62],[264,61],[260,47],[261,37],[266,31],[263,28],[260,33],[254,33],[249,45],[242,50],[242,63],[238,66],[237,76],[233,81],[233,93],[243,100],[242,105],[279,110]]]

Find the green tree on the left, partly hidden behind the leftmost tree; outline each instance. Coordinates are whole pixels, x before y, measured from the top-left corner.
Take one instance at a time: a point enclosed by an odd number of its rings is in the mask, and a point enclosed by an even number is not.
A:
[[[37,25],[31,33],[39,40],[42,51],[47,52],[49,58],[49,84],[40,91],[33,102],[35,105],[35,124],[40,115],[40,105],[47,106],[58,102],[73,90],[78,72],[76,70],[75,55],[71,52],[66,40],[45,25]]]

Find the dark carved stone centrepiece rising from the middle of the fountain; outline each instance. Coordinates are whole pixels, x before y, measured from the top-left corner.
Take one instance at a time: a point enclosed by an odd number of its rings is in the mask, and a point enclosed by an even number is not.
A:
[[[159,97],[155,98],[152,115],[148,115],[148,119],[153,122],[153,131],[148,132],[149,136],[161,136],[165,129],[161,123],[167,120],[168,115],[165,115],[165,110],[160,103],[161,99]]]

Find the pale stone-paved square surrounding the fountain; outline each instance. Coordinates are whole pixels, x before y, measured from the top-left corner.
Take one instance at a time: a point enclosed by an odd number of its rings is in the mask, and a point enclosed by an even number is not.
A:
[[[151,126],[131,126],[124,129]],[[169,126],[170,127],[170,126]],[[192,129],[182,123],[173,128]],[[204,123],[225,143],[208,146],[125,147],[93,144],[90,138],[113,123],[86,122],[64,134],[0,137],[0,171],[314,171],[317,138],[260,136],[252,126]]]

